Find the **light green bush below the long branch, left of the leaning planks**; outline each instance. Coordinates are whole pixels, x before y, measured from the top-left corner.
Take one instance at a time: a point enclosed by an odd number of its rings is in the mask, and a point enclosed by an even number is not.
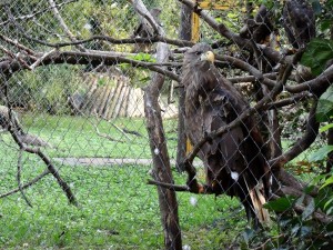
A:
[[[49,66],[11,78],[10,99],[14,106],[49,113],[68,113],[68,97],[78,90],[80,68]]]

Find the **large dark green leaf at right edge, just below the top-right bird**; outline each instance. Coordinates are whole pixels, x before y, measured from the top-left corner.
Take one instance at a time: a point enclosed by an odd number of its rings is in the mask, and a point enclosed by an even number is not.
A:
[[[333,58],[333,41],[322,38],[312,39],[302,56],[301,63],[319,76],[325,69],[327,60]]]

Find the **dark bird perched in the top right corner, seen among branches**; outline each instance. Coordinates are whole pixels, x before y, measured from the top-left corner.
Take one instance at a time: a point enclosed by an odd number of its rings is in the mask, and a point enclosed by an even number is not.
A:
[[[315,37],[315,16],[306,0],[286,0],[282,13],[289,42],[300,49]]]

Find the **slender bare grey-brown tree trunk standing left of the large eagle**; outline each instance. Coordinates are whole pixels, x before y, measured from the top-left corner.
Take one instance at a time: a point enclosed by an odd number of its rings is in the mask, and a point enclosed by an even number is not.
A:
[[[153,22],[153,18],[147,10],[141,0],[131,0],[138,13],[148,16]],[[164,36],[164,30],[158,23],[158,32]],[[157,62],[168,61],[169,48],[167,43],[159,42],[157,46]],[[144,89],[144,113],[147,119],[147,130],[149,136],[150,149],[153,159],[153,177],[157,181],[173,183],[173,177],[170,167],[170,159],[167,148],[167,140],[159,104],[160,91],[164,83],[164,76],[153,73],[151,82]],[[182,238],[178,218],[178,202],[174,190],[158,187],[159,203],[161,212],[161,222],[164,232],[164,246],[168,250],[181,250]]]

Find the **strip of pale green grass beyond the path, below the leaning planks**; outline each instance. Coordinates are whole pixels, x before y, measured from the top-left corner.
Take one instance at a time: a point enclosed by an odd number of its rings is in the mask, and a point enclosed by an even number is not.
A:
[[[57,157],[110,157],[110,158],[151,158],[148,134],[143,119],[115,119],[114,121],[97,121],[82,117],[52,117],[46,114],[24,114],[22,119],[29,133],[40,136],[49,141],[57,150],[48,150],[50,156]],[[111,141],[99,137],[93,124],[98,124],[101,133],[108,134],[115,140]],[[137,131],[142,137],[127,133],[128,138],[114,128]],[[165,132],[170,156],[175,153],[176,121],[165,120]]]

